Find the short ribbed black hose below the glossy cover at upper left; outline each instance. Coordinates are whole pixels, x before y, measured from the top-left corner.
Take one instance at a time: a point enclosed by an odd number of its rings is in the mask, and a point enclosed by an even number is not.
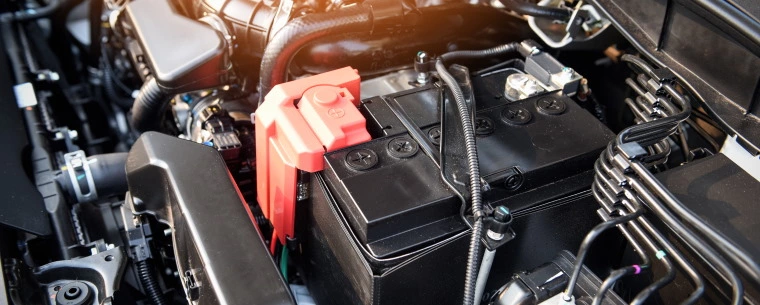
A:
[[[158,129],[170,99],[155,78],[146,81],[132,105],[132,127],[141,133]]]

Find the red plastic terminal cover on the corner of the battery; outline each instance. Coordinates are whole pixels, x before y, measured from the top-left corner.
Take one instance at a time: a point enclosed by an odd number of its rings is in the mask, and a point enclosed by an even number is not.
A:
[[[357,108],[360,82],[345,67],[283,83],[253,114],[257,200],[282,244],[294,234],[297,171],[321,171],[325,152],[371,139]]]

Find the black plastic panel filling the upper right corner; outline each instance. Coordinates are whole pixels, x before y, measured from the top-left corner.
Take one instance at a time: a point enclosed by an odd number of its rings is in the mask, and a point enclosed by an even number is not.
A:
[[[760,153],[757,4],[722,0],[589,1],[642,54],[670,68],[718,123]],[[756,1],[755,1],[756,2]]]

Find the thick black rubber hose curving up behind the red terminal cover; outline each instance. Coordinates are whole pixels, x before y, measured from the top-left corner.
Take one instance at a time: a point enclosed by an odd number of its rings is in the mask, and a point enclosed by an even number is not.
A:
[[[355,5],[327,13],[310,14],[289,22],[264,49],[261,58],[259,103],[274,86],[287,81],[288,66],[293,56],[306,44],[332,35],[369,35],[372,27],[373,16],[369,5]]]

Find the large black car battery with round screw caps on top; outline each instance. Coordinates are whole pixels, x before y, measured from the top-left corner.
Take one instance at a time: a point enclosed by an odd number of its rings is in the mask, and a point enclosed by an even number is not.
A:
[[[506,276],[575,249],[598,222],[589,170],[614,137],[559,90],[508,99],[506,79],[521,67],[517,60],[460,73],[470,85],[485,201],[513,211],[517,238],[510,243],[545,250],[510,257],[508,267],[497,262],[492,274]],[[470,237],[453,103],[435,84],[365,99],[359,109],[372,140],[324,154],[324,169],[311,177],[305,225],[308,285],[317,300],[461,303]]]

